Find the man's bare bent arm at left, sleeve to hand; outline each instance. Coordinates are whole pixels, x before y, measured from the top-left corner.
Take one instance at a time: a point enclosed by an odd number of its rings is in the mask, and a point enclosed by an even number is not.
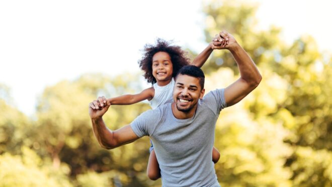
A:
[[[92,129],[99,144],[105,149],[113,149],[139,139],[129,125],[116,131],[111,131],[106,127],[103,115],[110,105],[111,103],[105,97],[99,97],[97,100],[89,103]]]

